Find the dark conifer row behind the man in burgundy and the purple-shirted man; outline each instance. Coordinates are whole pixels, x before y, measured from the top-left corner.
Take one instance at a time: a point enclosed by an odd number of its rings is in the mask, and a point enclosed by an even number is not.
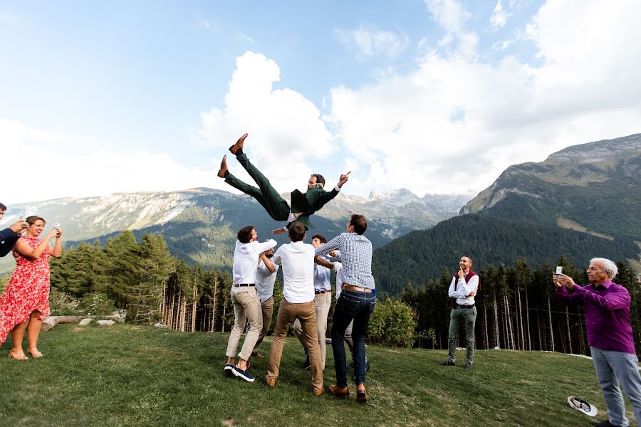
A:
[[[587,265],[578,270],[561,257],[563,273],[580,285],[588,283]],[[630,292],[630,318],[635,333],[637,353],[641,351],[641,284],[625,263],[617,262],[615,283]],[[533,270],[523,258],[512,265],[488,265],[477,271],[481,290],[475,297],[477,349],[543,350],[573,354],[590,354],[585,331],[583,306],[559,302],[551,280],[554,268],[545,264]],[[400,300],[415,310],[417,345],[447,349],[449,332],[449,298],[447,291],[453,273],[445,268],[440,278],[415,287],[407,282]],[[459,342],[464,342],[459,337]]]

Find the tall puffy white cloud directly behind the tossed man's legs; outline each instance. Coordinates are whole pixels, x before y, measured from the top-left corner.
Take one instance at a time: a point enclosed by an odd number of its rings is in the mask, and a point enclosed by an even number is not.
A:
[[[248,132],[249,158],[278,191],[286,192],[304,189],[312,173],[309,163],[328,157],[333,146],[316,105],[294,90],[274,90],[279,80],[278,65],[264,55],[247,52],[236,58],[224,107],[202,113],[199,137],[207,147],[226,149]],[[228,164],[232,173],[252,182],[234,156]]]

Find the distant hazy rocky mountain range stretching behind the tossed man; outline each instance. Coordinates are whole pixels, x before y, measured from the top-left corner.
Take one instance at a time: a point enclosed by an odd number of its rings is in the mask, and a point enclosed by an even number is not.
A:
[[[427,194],[420,198],[407,189],[372,193],[366,198],[340,193],[311,218],[314,228],[310,233],[336,236],[345,230],[350,214],[358,212],[368,218],[368,237],[378,248],[409,231],[429,228],[457,215],[471,197]],[[283,198],[288,195],[283,194]],[[242,226],[254,224],[264,239],[272,237],[273,228],[283,225],[269,218],[249,196],[207,188],[16,204],[9,206],[0,226],[31,214],[46,218],[48,226],[61,223],[66,245],[94,239],[104,243],[127,229],[137,236],[162,233],[172,255],[207,268],[231,265],[236,231]],[[276,240],[285,243],[286,236],[277,236]],[[1,258],[0,272],[13,267],[11,257]]]

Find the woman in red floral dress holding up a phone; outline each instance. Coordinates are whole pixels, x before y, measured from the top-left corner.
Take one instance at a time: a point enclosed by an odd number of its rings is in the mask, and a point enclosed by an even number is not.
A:
[[[49,315],[49,256],[58,257],[62,252],[62,230],[54,228],[42,240],[38,238],[43,231],[45,220],[39,216],[26,218],[29,228],[14,246],[17,267],[9,278],[0,297],[0,344],[9,331],[14,348],[9,357],[17,360],[27,359],[22,349],[24,331],[27,331],[28,352],[31,356],[42,357],[38,352],[38,334],[42,320]],[[49,246],[51,238],[56,244]]]

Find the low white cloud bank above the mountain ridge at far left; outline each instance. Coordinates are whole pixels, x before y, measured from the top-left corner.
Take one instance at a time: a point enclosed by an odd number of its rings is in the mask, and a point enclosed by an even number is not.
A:
[[[174,162],[169,154],[105,150],[70,153],[67,148],[75,146],[73,137],[35,130],[13,120],[0,118],[0,140],[6,157],[13,156],[13,161],[4,162],[2,168],[5,181],[0,201],[4,204],[120,191],[197,186],[226,189],[212,171],[189,169]]]

